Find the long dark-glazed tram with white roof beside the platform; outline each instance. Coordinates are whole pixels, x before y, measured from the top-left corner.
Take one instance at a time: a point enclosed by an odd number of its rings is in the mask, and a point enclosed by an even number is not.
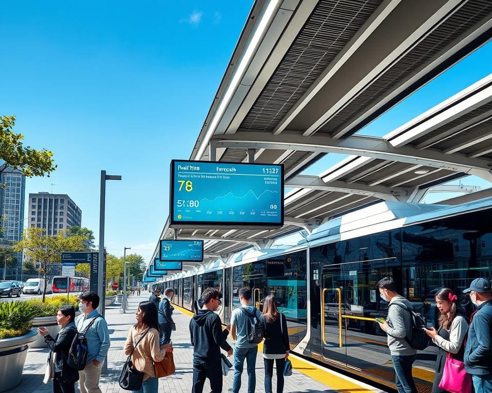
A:
[[[440,288],[461,294],[474,278],[490,279],[491,223],[492,198],[461,205],[382,202],[332,218],[295,247],[244,250],[157,285],[174,288],[173,302],[190,311],[204,289],[218,288],[224,324],[240,305],[240,288],[252,289],[260,310],[273,294],[293,353],[395,388],[386,336],[375,321],[386,317],[388,303],[376,283],[392,276],[399,293],[437,326]],[[432,387],[436,354],[433,345],[418,352],[413,374],[421,393]]]

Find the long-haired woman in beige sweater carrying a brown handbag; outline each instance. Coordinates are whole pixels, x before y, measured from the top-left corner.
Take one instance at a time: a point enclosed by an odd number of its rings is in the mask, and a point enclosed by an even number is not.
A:
[[[166,351],[172,352],[169,345],[159,346],[160,329],[157,320],[157,309],[154,303],[142,301],[135,313],[137,323],[128,332],[125,342],[125,355],[133,350],[132,362],[134,367],[144,373],[144,383],[140,390],[133,393],[157,393],[159,381],[155,375],[154,362],[161,362],[166,357]],[[138,340],[144,338],[138,343]]]

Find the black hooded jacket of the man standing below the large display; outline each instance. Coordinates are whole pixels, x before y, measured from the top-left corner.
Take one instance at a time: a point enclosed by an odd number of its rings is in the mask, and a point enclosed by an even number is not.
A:
[[[203,361],[220,359],[220,348],[229,351],[227,336],[229,331],[222,331],[220,317],[211,310],[198,310],[190,321],[191,344],[193,356]]]

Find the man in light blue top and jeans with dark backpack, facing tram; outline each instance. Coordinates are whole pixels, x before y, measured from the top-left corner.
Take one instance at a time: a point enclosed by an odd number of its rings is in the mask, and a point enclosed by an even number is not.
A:
[[[251,289],[239,290],[241,307],[232,312],[231,335],[236,344],[234,346],[234,379],[232,392],[238,393],[241,388],[241,375],[244,359],[247,363],[248,393],[254,393],[256,388],[256,355],[258,343],[263,339],[261,313],[251,303]]]

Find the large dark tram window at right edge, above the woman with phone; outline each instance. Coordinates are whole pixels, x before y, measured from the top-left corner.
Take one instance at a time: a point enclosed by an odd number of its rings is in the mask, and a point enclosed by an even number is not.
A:
[[[428,322],[437,323],[434,297],[441,288],[461,293],[473,279],[490,277],[491,212],[459,215],[402,229],[403,295],[426,315]],[[467,299],[464,302],[469,306]]]

